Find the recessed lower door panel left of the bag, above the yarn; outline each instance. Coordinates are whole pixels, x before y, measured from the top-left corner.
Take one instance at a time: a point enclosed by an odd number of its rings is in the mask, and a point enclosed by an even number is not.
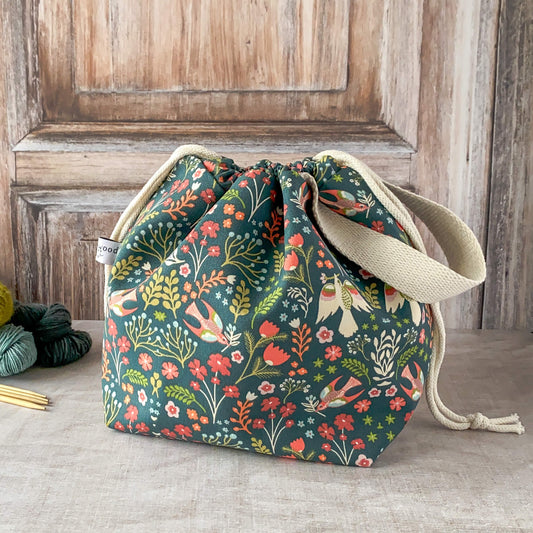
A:
[[[18,298],[61,302],[73,318],[102,318],[104,267],[95,262],[136,191],[14,189]]]

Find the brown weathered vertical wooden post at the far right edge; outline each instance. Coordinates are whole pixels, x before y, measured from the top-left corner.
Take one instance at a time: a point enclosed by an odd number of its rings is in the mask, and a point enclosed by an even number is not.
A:
[[[484,328],[533,327],[533,3],[502,0]]]

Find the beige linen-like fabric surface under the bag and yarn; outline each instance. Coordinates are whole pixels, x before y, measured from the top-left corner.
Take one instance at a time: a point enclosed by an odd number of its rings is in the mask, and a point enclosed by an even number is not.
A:
[[[533,531],[533,432],[452,431],[425,399],[372,468],[128,436],[103,424],[101,322],[91,352],[2,380],[48,412],[0,403],[0,531]],[[533,427],[533,335],[449,332],[451,407]]]

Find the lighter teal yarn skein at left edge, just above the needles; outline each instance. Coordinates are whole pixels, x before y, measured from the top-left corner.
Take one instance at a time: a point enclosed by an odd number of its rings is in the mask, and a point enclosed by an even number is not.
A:
[[[6,324],[0,328],[0,376],[24,372],[37,361],[33,335],[21,326]]]

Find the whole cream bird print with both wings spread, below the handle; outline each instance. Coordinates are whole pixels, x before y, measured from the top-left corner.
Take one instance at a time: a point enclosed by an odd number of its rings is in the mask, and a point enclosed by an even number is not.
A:
[[[342,309],[339,333],[345,337],[351,337],[359,329],[352,308],[366,312],[372,309],[351,281],[346,280],[341,284],[335,274],[333,283],[326,283],[320,292],[316,323],[335,314],[339,308]]]

